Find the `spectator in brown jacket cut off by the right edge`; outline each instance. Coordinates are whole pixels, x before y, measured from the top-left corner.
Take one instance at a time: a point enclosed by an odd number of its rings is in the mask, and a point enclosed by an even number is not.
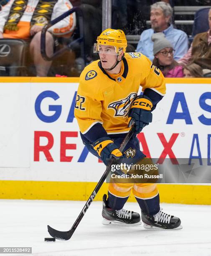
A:
[[[211,9],[208,13],[209,30],[197,34],[187,54],[178,62],[186,65],[196,63],[204,69],[211,69]]]

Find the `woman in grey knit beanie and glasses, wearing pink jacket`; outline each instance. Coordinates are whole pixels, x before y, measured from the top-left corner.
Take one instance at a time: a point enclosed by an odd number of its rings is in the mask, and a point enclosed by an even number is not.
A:
[[[164,33],[154,33],[152,36],[154,60],[153,65],[158,67],[164,77],[183,77],[183,67],[173,58],[173,45],[165,38]]]

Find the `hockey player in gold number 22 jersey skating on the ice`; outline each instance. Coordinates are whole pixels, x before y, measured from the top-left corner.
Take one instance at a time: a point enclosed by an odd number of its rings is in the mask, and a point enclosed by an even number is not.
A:
[[[160,70],[141,53],[125,53],[126,47],[122,30],[103,31],[94,44],[99,60],[84,68],[76,96],[74,114],[82,141],[105,165],[112,157],[145,158],[136,134],[152,122],[152,111],[165,95]],[[140,86],[143,94],[137,96]],[[120,152],[132,122],[135,134]],[[151,183],[109,183],[108,198],[103,196],[104,224],[141,224],[137,212],[122,209],[131,190],[140,205],[145,228],[181,228],[179,218],[160,210],[158,189]]]

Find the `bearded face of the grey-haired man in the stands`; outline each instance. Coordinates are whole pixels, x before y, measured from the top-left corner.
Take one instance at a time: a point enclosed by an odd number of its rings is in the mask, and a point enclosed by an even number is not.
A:
[[[168,28],[169,20],[170,16],[165,17],[163,10],[161,10],[160,8],[152,9],[150,12],[151,27],[157,32],[163,31]]]

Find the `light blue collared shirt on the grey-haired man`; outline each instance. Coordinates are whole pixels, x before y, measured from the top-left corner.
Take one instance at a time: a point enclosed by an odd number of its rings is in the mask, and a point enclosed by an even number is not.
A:
[[[153,41],[151,37],[153,33],[156,33],[152,28],[146,29],[141,33],[140,40],[137,45],[137,52],[141,52],[147,56],[151,61],[154,59],[153,54]],[[173,25],[166,28],[163,33],[166,39],[168,39],[175,49],[174,59],[181,59],[188,51],[188,36],[187,34],[179,29],[175,29]]]

